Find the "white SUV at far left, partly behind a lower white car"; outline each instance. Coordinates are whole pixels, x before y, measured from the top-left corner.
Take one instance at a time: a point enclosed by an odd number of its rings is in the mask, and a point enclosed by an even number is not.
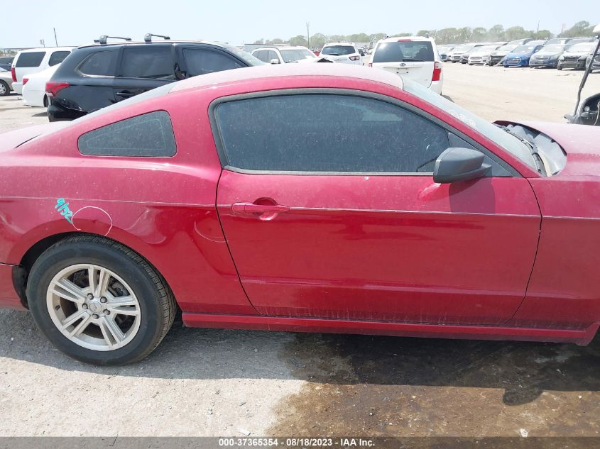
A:
[[[41,72],[42,70],[60,64],[71,54],[73,47],[31,48],[18,52],[11,66],[13,75],[13,91],[23,93],[23,76]]]

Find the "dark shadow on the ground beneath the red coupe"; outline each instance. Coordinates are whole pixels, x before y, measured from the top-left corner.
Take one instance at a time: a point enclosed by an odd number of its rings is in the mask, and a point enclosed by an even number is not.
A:
[[[176,322],[146,360],[97,367],[53,348],[28,313],[0,311],[0,342],[0,357],[111,376],[493,388],[503,389],[508,406],[544,391],[600,391],[600,336],[577,346],[191,329]]]

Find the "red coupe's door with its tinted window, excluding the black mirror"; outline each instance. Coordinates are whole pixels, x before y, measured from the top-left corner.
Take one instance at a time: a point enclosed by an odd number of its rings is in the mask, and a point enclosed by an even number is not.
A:
[[[217,210],[257,311],[415,323],[511,318],[540,231],[527,180],[489,154],[488,177],[436,184],[437,156],[472,143],[403,104],[305,92],[212,109],[225,169]]]

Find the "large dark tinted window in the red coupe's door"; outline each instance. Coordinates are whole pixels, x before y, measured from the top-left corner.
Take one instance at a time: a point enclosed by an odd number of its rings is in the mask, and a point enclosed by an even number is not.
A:
[[[229,165],[299,172],[432,172],[447,133],[375,99],[305,94],[230,101],[216,109]]]

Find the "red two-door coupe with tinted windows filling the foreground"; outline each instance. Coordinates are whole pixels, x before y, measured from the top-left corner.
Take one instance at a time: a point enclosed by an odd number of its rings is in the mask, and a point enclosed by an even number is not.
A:
[[[293,67],[291,67],[293,66]],[[0,140],[0,304],[123,364],[185,326],[587,344],[600,130],[251,67]]]

